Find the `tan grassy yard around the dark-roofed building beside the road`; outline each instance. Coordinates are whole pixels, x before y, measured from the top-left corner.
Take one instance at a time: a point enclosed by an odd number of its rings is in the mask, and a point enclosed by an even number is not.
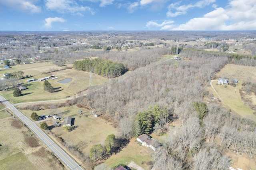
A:
[[[83,111],[82,114],[78,112],[79,110]],[[94,115],[90,115],[90,112],[83,108],[78,108],[76,106],[70,107],[62,107],[55,110],[59,112],[62,116],[62,120],[58,121],[61,123],[65,117],[71,116],[75,118],[74,126],[77,126],[71,132],[65,131],[62,129],[63,127],[54,127],[52,117],[46,118],[48,127],[52,128],[52,132],[57,136],[62,137],[68,145],[76,146],[80,149],[85,155],[89,153],[92,145],[102,143],[106,137],[112,133],[117,134],[117,131],[109,122],[106,122],[104,119],[100,117],[94,117]],[[32,111],[30,110],[22,110],[27,117],[30,117]],[[42,114],[50,114],[50,109],[36,111],[38,115]],[[39,123],[39,122],[38,122]]]

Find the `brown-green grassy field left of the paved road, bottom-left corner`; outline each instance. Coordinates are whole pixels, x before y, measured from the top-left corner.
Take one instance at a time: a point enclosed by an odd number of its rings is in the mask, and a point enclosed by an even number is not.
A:
[[[0,167],[4,170],[64,170],[17,119],[0,119]]]

